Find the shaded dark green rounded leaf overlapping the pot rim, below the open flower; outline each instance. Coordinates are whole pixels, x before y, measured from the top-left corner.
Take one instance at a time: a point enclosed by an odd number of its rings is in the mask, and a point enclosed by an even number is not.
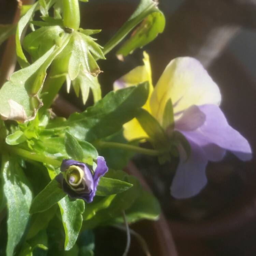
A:
[[[141,191],[139,197],[131,205],[131,207],[125,211],[127,221],[134,223],[141,219],[150,219],[155,221],[158,219],[161,208],[157,199],[146,191]],[[110,223],[123,223],[124,219],[122,216],[110,220]]]

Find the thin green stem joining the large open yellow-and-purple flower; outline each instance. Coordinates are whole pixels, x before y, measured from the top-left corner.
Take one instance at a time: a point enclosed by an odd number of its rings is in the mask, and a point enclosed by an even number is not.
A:
[[[129,144],[118,143],[118,142],[108,142],[108,141],[97,141],[94,145],[96,147],[101,147],[101,148],[108,148],[108,147],[120,148],[123,150],[133,151],[136,153],[141,153],[141,154],[150,155],[150,156],[159,156],[164,152],[166,152],[166,150],[152,150],[152,149],[137,147]]]

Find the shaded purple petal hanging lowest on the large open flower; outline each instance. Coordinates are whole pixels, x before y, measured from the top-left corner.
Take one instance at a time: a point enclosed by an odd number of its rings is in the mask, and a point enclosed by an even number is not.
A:
[[[180,162],[171,185],[171,195],[182,199],[197,195],[206,185],[205,167],[208,159],[200,146],[189,141],[191,155],[186,160],[186,153],[180,146]]]

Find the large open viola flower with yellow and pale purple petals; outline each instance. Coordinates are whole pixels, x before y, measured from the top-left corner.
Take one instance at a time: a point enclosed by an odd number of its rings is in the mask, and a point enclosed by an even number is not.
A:
[[[151,82],[149,59],[144,53],[144,66],[137,67],[114,83],[114,89]],[[140,80],[140,81],[138,81]],[[171,184],[175,198],[195,196],[206,185],[205,168],[208,161],[220,161],[226,150],[243,161],[252,158],[247,140],[229,126],[219,108],[221,94],[201,63],[190,57],[172,60],[163,71],[154,89],[150,90],[143,106],[163,126],[163,113],[171,99],[174,112],[174,130],[181,132],[191,146],[187,157],[179,145],[180,161]],[[166,130],[168,127],[166,128]],[[142,131],[142,132],[141,132]],[[127,140],[148,137],[134,118],[124,125]]]

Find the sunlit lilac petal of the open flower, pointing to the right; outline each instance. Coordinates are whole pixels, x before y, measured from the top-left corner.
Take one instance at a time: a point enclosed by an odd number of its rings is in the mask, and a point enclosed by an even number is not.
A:
[[[193,120],[189,117],[186,118],[188,124],[184,125],[186,123],[184,118],[187,116],[186,112],[198,112],[197,115],[203,113],[206,116],[205,122],[197,129],[187,129],[195,126],[190,125]],[[195,113],[193,115],[196,116]],[[181,120],[182,122],[177,120],[175,123],[176,129],[182,132],[187,139],[202,147],[209,160],[221,160],[225,155],[225,150],[231,151],[243,161],[252,158],[252,150],[248,141],[238,131],[229,126],[218,106],[213,104],[191,106],[183,113]]]

